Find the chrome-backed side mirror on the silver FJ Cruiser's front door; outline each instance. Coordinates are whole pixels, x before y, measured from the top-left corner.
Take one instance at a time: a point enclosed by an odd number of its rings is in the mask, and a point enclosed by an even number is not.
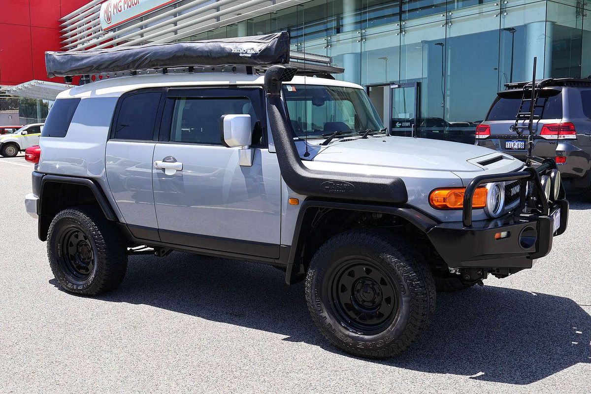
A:
[[[252,125],[250,115],[223,115],[222,116],[222,144],[228,148],[240,146],[240,165],[252,167],[254,149],[252,144]]]

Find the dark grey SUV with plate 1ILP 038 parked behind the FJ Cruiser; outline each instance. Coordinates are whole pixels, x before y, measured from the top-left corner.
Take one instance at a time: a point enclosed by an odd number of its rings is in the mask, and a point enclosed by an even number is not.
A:
[[[485,121],[477,126],[476,142],[525,161],[528,131],[519,136],[513,126],[524,89],[526,97],[531,94],[531,82],[510,83],[506,88],[497,93]],[[526,102],[521,111],[529,110]],[[591,80],[545,81],[534,114],[533,154],[555,159],[564,183],[591,199]],[[527,122],[519,119],[517,125]]]

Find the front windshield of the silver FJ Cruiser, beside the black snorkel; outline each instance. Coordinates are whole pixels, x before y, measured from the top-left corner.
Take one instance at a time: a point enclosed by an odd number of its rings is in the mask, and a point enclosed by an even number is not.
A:
[[[288,84],[283,86],[283,95],[298,138],[320,138],[334,132],[357,135],[384,127],[362,89]]]

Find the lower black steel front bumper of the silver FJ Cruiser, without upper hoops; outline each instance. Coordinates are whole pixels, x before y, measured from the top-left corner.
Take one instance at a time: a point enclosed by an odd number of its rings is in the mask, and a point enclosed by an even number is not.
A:
[[[560,226],[554,232],[553,214],[558,209]],[[564,233],[568,220],[568,201],[557,200],[548,215],[509,214],[473,222],[469,227],[442,223],[432,227],[427,236],[450,268],[531,268],[535,259],[550,253],[553,237]],[[505,237],[496,239],[501,233]]]

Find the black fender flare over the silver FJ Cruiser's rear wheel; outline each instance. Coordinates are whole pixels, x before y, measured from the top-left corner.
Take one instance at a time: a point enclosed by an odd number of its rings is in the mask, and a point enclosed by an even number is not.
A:
[[[47,231],[53,217],[68,207],[97,204],[107,220],[118,222],[115,210],[105,193],[89,178],[44,175],[39,185],[38,236],[47,240]]]

